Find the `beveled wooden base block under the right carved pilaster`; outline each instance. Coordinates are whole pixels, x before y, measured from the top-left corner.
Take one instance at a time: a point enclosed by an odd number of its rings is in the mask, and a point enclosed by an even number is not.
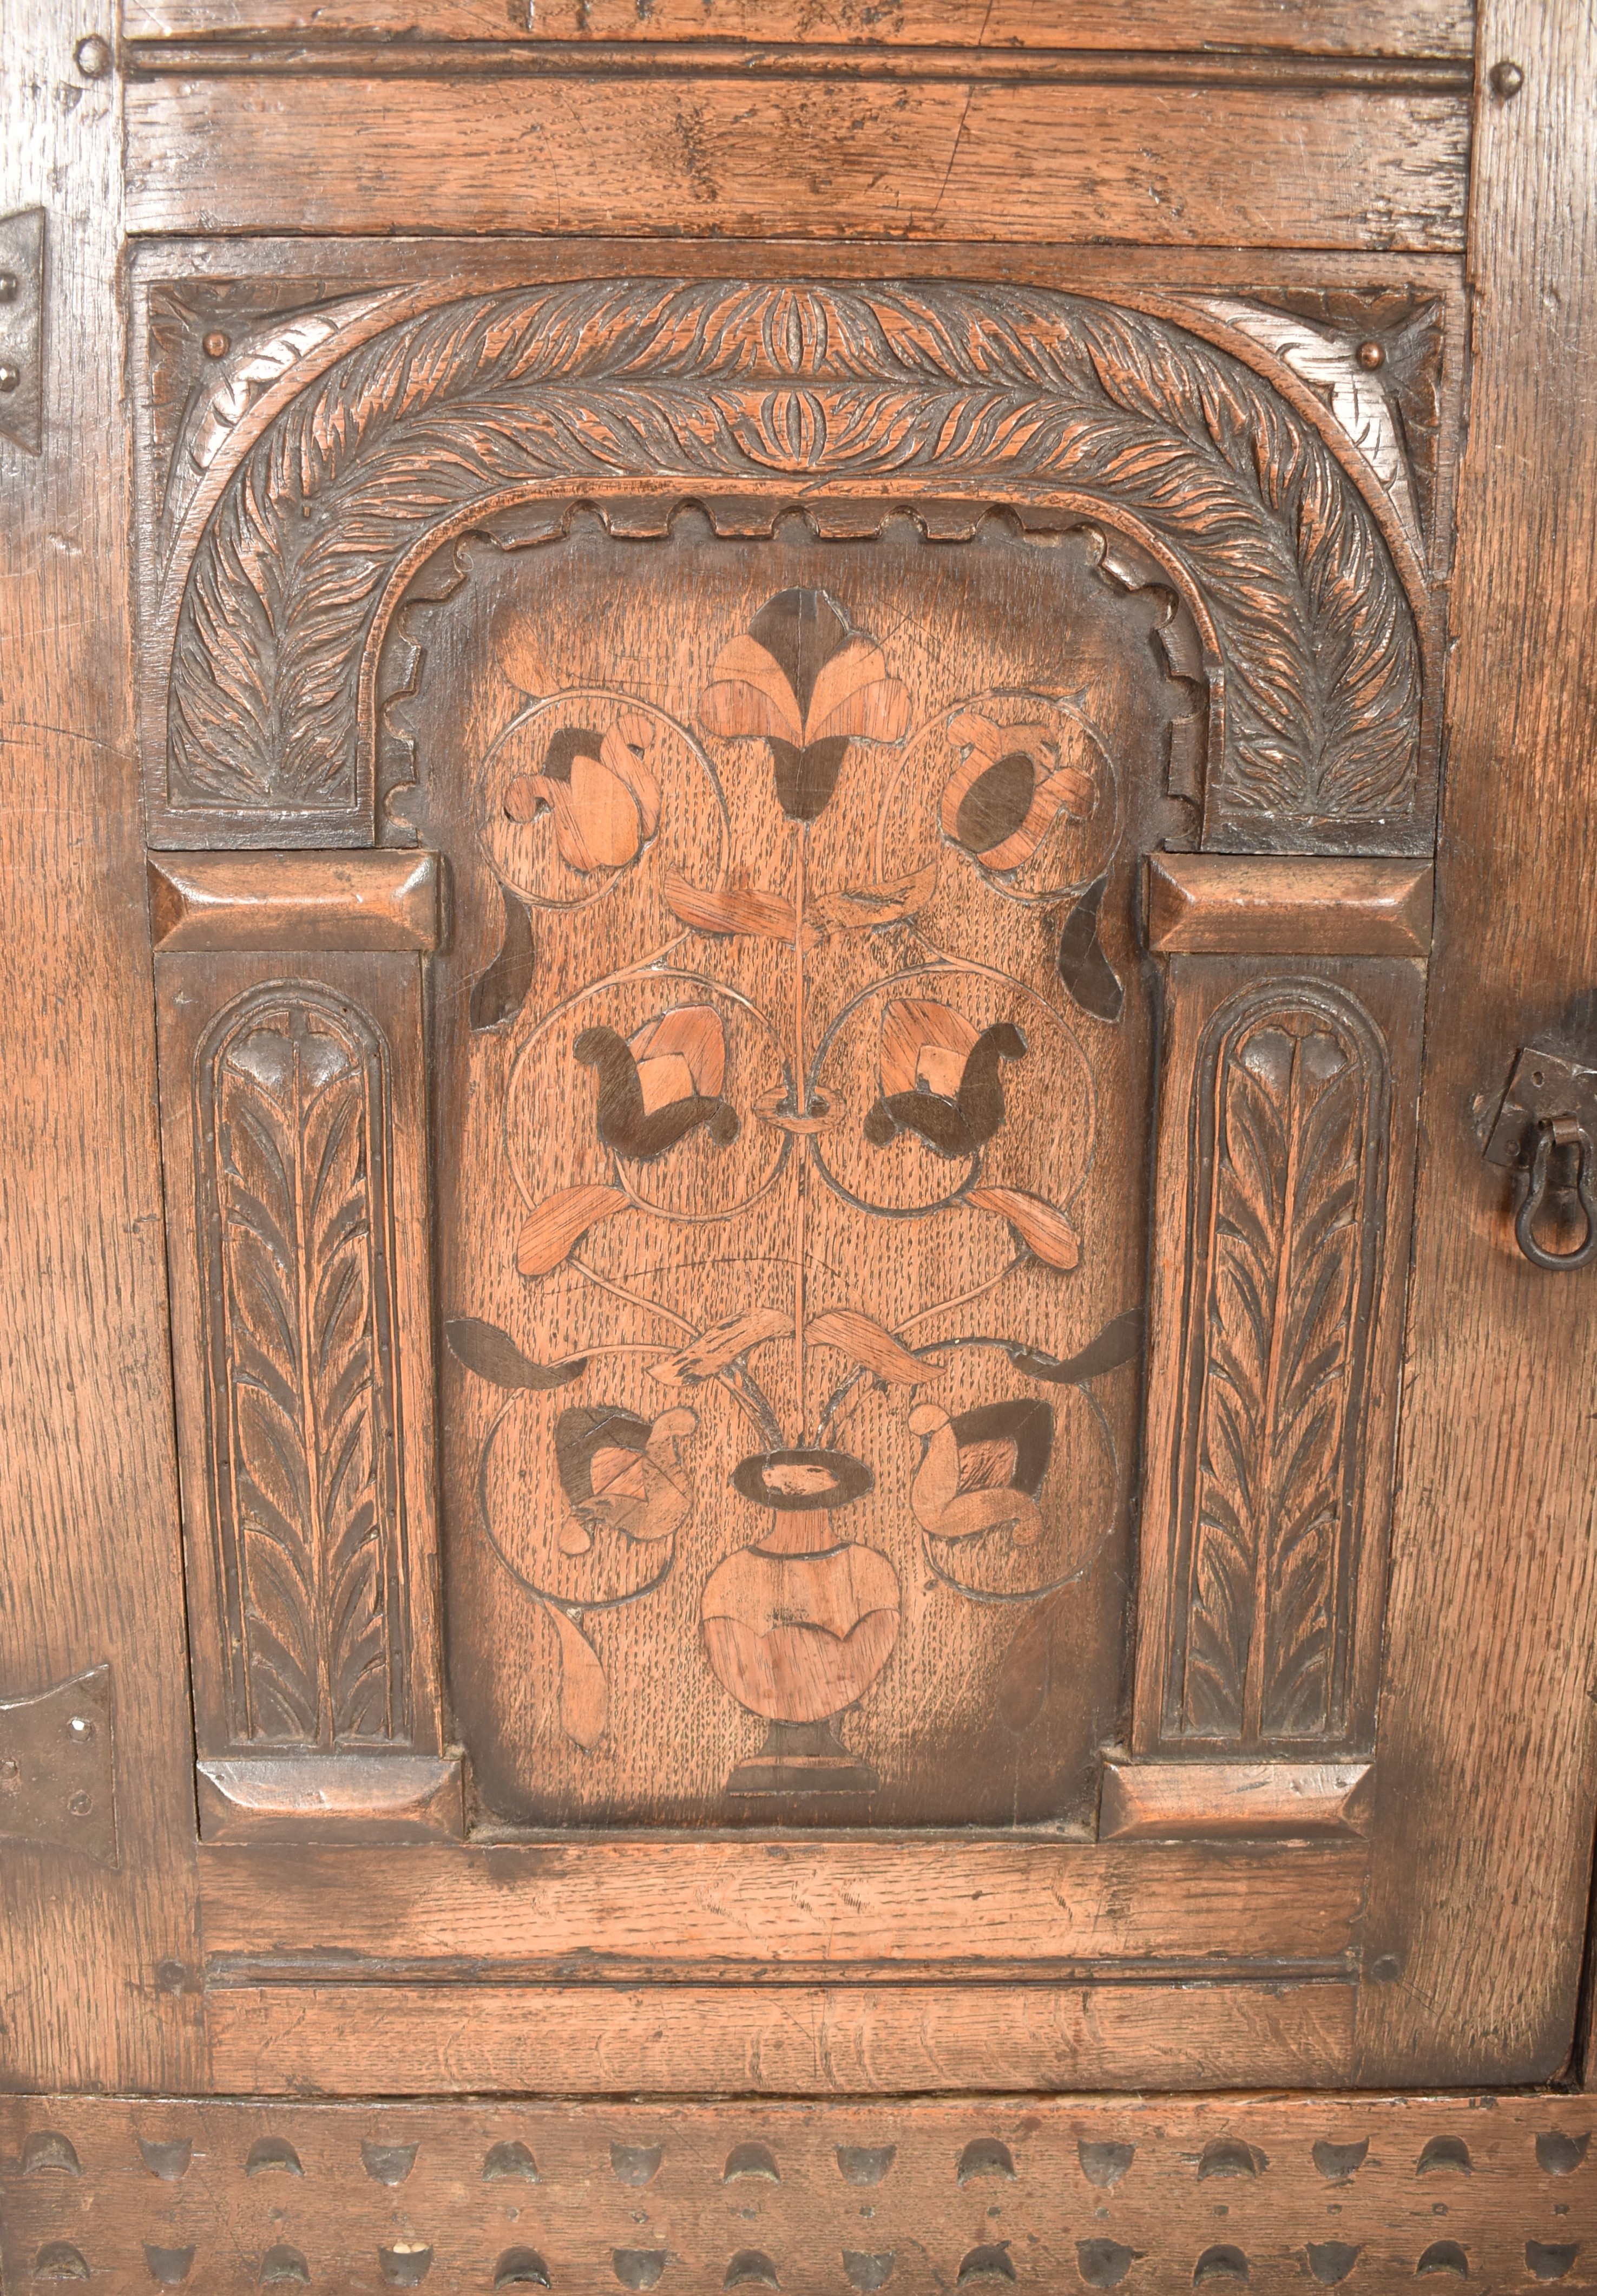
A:
[[[1361,1835],[1368,1761],[1108,1761],[1101,1841]]]

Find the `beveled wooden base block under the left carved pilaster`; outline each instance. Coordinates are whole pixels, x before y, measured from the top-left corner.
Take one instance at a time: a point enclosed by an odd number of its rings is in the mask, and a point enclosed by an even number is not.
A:
[[[202,1841],[427,1841],[463,1832],[452,1754],[259,1754],[195,1766]]]

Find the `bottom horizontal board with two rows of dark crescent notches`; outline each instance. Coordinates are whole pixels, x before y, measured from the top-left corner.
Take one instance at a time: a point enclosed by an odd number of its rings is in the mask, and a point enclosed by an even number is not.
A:
[[[0,2268],[110,2296],[1586,2289],[1590,2133],[1569,2094],[11,2096]]]

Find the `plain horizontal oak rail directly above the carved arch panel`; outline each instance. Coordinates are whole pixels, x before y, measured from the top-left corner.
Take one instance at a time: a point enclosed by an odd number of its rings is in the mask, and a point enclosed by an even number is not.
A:
[[[128,230],[1443,250],[1466,124],[1361,90],[135,78]]]

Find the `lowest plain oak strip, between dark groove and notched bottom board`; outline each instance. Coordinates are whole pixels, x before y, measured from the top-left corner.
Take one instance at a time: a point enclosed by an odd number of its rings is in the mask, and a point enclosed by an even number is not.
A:
[[[1312,2089],[1347,2080],[1351,1984],[225,1986],[232,2094],[860,2096]]]

